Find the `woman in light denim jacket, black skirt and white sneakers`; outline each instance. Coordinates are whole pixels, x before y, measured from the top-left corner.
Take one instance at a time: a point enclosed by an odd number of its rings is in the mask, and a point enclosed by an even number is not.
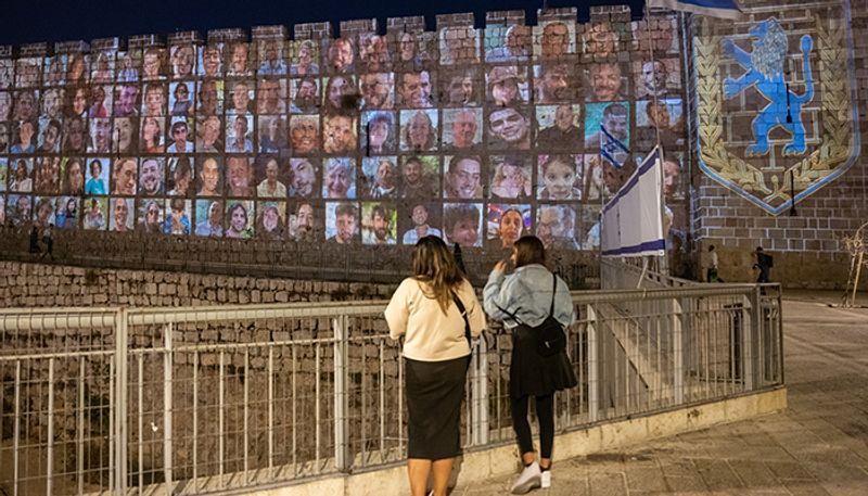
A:
[[[498,262],[488,276],[483,296],[486,314],[503,320],[512,331],[509,373],[512,427],[525,467],[513,484],[512,493],[524,494],[534,487],[551,485],[554,392],[573,387],[577,382],[566,351],[547,357],[539,355],[534,328],[549,316],[552,306],[552,317],[563,326],[573,323],[575,314],[566,283],[545,266],[546,252],[539,238],[525,236],[516,241],[510,260],[515,270],[507,275],[507,262]],[[536,399],[539,421],[539,462],[536,461],[527,422],[529,396]]]

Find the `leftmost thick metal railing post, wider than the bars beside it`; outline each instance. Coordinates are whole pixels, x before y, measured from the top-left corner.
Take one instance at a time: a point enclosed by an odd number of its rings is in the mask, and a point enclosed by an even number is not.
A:
[[[127,358],[129,346],[127,309],[118,309],[115,318],[115,410],[112,434],[115,436],[115,494],[122,496],[127,493]]]

